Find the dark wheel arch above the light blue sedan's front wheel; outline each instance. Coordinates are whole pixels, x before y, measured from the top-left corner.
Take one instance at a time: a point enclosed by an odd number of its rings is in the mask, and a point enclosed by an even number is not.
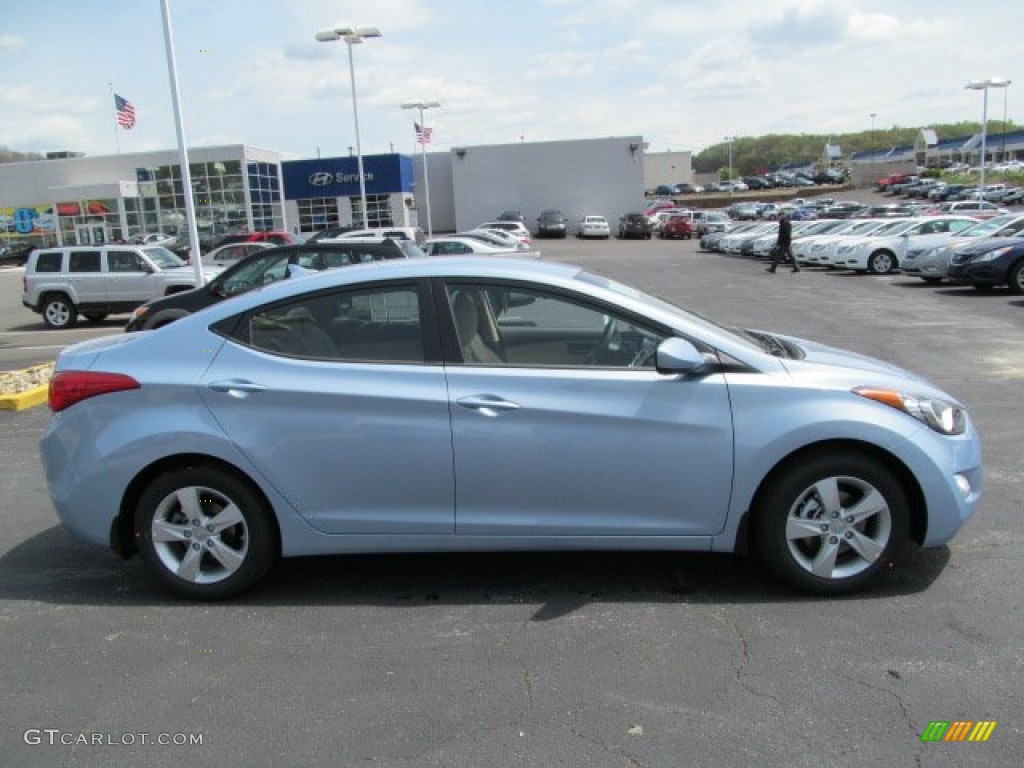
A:
[[[773,478],[779,474],[779,472],[784,472],[787,467],[805,462],[810,457],[817,456],[822,453],[857,453],[878,461],[880,464],[885,466],[886,469],[890,470],[896,476],[896,479],[903,488],[904,493],[906,493],[907,503],[910,508],[908,536],[910,540],[918,545],[921,545],[925,541],[925,534],[928,530],[928,509],[924,490],[922,489],[918,478],[914,477],[913,472],[911,472],[899,458],[879,445],[865,442],[863,440],[837,439],[821,440],[803,445],[779,459],[771,467],[771,469],[765,473],[764,477],[761,478],[761,482],[758,483],[757,488],[751,497],[750,505],[739,522],[739,527],[736,534],[736,549],[738,551],[746,553],[753,550],[754,526],[751,524],[752,510],[757,505],[758,500],[764,496],[765,488],[768,483],[771,482]]]

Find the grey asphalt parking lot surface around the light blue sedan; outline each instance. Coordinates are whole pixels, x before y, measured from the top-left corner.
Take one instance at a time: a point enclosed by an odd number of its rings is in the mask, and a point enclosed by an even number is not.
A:
[[[925,374],[979,425],[978,514],[840,600],[739,558],[641,553],[296,560],[197,605],[73,541],[39,465],[47,412],[0,412],[0,765],[1019,765],[1024,299],[772,275],[689,241],[537,245],[727,324]],[[0,273],[0,369],[121,332],[46,332],[19,291]],[[922,741],[957,720],[997,725],[984,743]]]

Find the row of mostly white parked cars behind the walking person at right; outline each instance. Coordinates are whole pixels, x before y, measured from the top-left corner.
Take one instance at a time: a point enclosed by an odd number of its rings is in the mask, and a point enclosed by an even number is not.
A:
[[[765,258],[776,222],[737,223],[700,239],[707,251]],[[794,258],[804,266],[871,274],[897,270],[928,283],[957,280],[979,291],[1024,294],[1024,214],[821,219],[793,224]]]

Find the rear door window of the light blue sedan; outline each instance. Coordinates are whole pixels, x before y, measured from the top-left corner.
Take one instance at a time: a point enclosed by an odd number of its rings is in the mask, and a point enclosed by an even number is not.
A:
[[[265,352],[343,362],[423,362],[416,286],[302,296],[249,315],[242,339]]]

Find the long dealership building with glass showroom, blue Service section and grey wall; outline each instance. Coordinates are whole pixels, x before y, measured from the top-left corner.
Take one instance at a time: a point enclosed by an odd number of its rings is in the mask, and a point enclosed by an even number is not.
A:
[[[521,211],[527,222],[548,208],[570,220],[601,214],[614,221],[641,205],[645,188],[639,136],[362,161],[371,226],[427,229],[427,182],[433,231],[471,228],[507,210]],[[261,229],[309,236],[364,220],[354,157],[303,160],[245,144],[205,146],[189,148],[188,172],[201,238]],[[0,243],[96,245],[158,231],[186,237],[186,216],[176,151],[0,164]]]

